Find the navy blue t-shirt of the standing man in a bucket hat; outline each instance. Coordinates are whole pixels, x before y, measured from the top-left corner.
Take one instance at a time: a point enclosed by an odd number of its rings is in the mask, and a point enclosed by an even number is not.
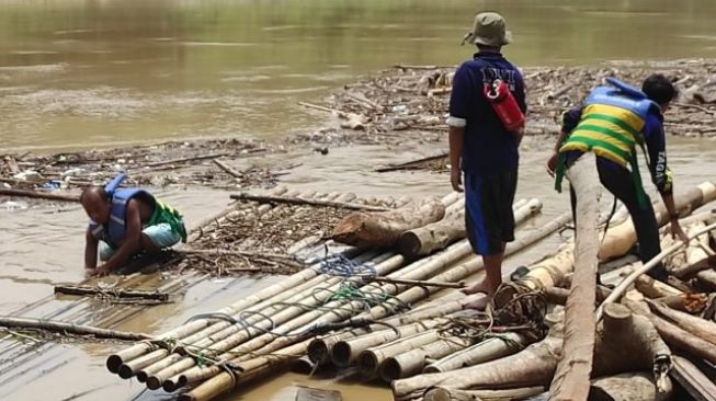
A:
[[[524,81],[520,71],[499,53],[480,51],[455,72],[450,115],[466,121],[463,171],[491,175],[519,164],[518,142],[485,99],[484,88],[495,79],[504,81],[525,113]]]

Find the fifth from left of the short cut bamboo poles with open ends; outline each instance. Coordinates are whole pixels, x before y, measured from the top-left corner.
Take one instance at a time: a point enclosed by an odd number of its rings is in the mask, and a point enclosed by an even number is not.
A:
[[[485,340],[464,351],[447,355],[425,366],[423,373],[436,374],[457,370],[512,355],[527,345],[527,340],[519,333],[504,333]]]

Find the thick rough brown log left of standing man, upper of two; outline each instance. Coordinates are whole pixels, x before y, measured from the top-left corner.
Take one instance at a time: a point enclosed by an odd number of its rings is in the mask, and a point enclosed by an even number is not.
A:
[[[445,206],[437,198],[380,214],[354,213],[333,228],[332,239],[356,247],[390,247],[402,232],[435,222],[445,216]]]

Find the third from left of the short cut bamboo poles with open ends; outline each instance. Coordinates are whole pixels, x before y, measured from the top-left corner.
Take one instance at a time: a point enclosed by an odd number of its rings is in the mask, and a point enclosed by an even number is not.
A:
[[[370,347],[363,351],[356,360],[359,371],[365,378],[374,378],[378,375],[380,364],[387,358],[404,352],[420,347],[440,340],[437,330],[429,330],[411,336],[397,339],[387,344]]]

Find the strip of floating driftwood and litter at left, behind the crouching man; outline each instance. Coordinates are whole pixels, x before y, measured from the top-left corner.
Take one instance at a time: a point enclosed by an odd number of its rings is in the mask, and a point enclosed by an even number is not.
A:
[[[0,188],[53,194],[102,185],[118,172],[128,173],[125,186],[193,184],[229,190],[270,187],[276,184],[281,170],[292,167],[269,170],[253,165],[251,158],[277,151],[282,151],[281,147],[272,144],[216,139],[49,156],[0,154]],[[245,159],[248,168],[234,168]]]

